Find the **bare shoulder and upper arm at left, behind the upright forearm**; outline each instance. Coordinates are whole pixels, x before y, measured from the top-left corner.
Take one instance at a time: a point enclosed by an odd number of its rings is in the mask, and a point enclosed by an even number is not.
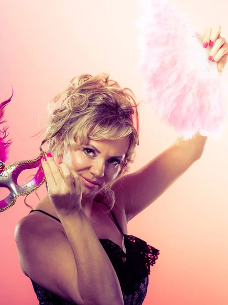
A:
[[[14,236],[25,276],[63,299],[84,304],[73,252],[61,224],[29,214],[18,222]]]

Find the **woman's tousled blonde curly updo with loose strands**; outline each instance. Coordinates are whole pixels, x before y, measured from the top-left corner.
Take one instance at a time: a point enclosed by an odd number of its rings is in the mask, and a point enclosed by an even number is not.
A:
[[[34,136],[46,131],[40,150],[44,151],[42,146],[48,144],[47,151],[55,160],[62,159],[68,146],[78,149],[79,145],[87,142],[88,137],[92,140],[128,137],[129,147],[117,177],[100,191],[112,209],[116,198],[111,188],[130,170],[130,163],[135,158],[135,148],[139,145],[137,107],[140,103],[136,104],[137,99],[131,89],[122,89],[109,77],[109,73],[74,77],[70,85],[48,105],[47,123]],[[61,98],[64,98],[61,105],[54,110]],[[76,139],[79,139],[79,144]]]

